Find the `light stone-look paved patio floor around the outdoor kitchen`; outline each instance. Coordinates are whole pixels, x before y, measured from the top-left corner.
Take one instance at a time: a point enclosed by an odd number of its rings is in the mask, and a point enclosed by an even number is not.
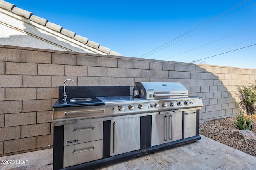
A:
[[[97,170],[256,170],[256,157],[210,138]],[[53,149],[0,157],[0,170],[52,170]],[[8,164],[2,164],[4,163]],[[9,162],[8,162],[9,161]],[[10,163],[10,161],[12,161]]]

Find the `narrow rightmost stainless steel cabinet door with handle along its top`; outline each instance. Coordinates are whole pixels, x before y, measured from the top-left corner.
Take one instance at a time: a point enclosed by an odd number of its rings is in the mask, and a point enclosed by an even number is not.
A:
[[[196,136],[196,111],[185,111],[184,138]]]

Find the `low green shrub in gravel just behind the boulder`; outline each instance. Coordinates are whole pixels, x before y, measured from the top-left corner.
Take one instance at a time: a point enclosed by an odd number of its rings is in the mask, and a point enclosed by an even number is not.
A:
[[[236,115],[236,121],[234,121],[236,128],[239,130],[251,130],[251,119],[244,119],[244,113],[240,111],[238,115]]]

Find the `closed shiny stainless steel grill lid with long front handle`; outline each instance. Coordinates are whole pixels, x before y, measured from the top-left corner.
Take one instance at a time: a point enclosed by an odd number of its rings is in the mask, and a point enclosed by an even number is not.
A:
[[[134,95],[145,99],[188,98],[188,90],[180,83],[135,82]]]

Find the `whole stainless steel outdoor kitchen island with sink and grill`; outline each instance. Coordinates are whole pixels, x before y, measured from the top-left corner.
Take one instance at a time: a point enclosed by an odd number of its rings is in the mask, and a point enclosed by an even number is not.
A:
[[[54,170],[96,168],[201,139],[202,100],[188,96],[182,84],[138,82],[133,95],[130,89],[59,87],[53,105]]]

